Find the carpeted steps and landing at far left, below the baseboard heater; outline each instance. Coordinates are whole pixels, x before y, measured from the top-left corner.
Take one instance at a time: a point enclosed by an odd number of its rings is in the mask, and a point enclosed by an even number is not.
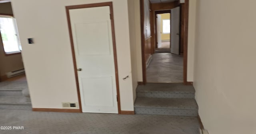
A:
[[[0,109],[32,110],[26,81],[0,83]]]

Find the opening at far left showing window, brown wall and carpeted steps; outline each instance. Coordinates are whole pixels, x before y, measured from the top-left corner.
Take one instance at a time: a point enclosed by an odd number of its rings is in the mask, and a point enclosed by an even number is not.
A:
[[[11,2],[0,2],[0,109],[32,110]]]

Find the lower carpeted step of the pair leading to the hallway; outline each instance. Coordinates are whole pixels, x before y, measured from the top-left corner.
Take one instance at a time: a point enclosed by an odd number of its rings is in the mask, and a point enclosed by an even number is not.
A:
[[[198,116],[195,99],[137,97],[134,111],[148,115]]]

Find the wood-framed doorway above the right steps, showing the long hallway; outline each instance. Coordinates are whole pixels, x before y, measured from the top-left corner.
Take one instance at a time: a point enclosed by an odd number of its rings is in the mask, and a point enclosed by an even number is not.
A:
[[[192,84],[186,80],[188,0],[185,3],[180,3],[178,0],[169,3],[156,3],[152,0],[140,2],[143,5],[141,6],[142,83]],[[145,9],[147,7],[150,8],[149,13]],[[150,23],[147,22],[149,20]],[[146,29],[147,27],[150,27],[150,30]],[[149,31],[151,31],[150,38],[145,35]],[[150,56],[145,51],[148,49],[149,41],[151,41]]]

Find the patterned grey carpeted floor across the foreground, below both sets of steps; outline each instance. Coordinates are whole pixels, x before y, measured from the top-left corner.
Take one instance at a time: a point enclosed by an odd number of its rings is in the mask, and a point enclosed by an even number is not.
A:
[[[197,117],[0,110],[0,134],[199,134]]]

